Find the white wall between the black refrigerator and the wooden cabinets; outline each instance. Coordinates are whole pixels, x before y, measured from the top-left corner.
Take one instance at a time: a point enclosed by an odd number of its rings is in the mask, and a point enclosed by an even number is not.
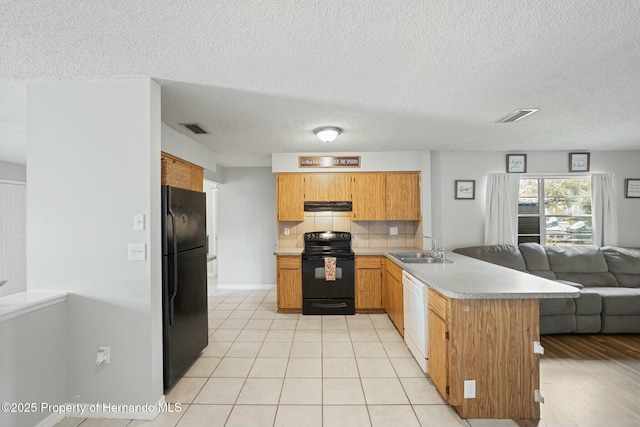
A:
[[[276,179],[270,168],[225,168],[218,185],[218,285],[274,284]]]

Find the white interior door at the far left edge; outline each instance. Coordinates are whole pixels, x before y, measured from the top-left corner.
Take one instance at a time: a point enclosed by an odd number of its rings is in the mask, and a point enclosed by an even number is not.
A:
[[[26,189],[0,181],[0,296],[27,290]]]

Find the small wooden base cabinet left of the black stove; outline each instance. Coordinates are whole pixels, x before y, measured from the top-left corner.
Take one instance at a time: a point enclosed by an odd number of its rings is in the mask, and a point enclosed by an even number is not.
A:
[[[276,257],[278,311],[302,310],[302,257]]]

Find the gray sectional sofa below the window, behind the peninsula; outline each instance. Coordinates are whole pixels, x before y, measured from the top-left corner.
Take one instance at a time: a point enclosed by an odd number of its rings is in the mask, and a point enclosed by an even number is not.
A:
[[[454,252],[580,289],[540,300],[540,333],[640,333],[640,248],[493,245]]]

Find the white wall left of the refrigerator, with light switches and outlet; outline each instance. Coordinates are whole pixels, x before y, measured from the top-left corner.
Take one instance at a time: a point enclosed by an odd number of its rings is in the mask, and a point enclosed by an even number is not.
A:
[[[28,102],[27,288],[70,293],[67,400],[155,404],[160,87],[149,78],[35,82]],[[133,230],[134,214],[146,216],[144,231]],[[145,243],[147,260],[128,261],[128,243]],[[101,346],[111,364],[97,367]]]

